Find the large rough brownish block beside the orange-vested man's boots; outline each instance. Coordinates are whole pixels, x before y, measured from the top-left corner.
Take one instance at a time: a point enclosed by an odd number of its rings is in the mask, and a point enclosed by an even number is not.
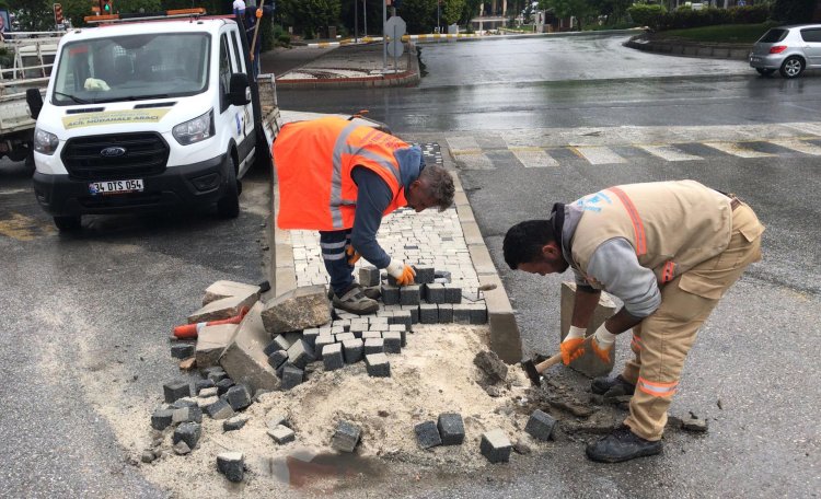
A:
[[[331,302],[324,286],[301,287],[269,301],[262,317],[265,330],[271,336],[307,329],[331,322]]]

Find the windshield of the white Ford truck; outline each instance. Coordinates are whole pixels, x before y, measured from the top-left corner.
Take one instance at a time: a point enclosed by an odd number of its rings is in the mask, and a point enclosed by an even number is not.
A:
[[[207,34],[113,36],[66,44],[55,73],[58,106],[194,95],[208,86]]]

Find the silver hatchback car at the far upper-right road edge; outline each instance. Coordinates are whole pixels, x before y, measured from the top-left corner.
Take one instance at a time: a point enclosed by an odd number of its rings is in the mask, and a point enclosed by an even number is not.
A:
[[[750,66],[762,76],[778,70],[784,78],[821,68],[821,24],[773,27],[753,45]]]

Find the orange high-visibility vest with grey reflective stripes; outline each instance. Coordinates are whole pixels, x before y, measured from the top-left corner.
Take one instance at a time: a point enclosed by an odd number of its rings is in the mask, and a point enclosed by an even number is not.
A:
[[[393,152],[410,147],[347,119],[289,123],[274,142],[280,229],[336,231],[354,227],[358,188],[354,166],[377,173],[393,195],[383,216],[407,205]]]

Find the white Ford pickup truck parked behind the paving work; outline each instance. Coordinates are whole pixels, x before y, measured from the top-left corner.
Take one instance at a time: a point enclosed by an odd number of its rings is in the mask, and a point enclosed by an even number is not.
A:
[[[243,33],[232,18],[192,16],[62,36],[45,100],[28,94],[34,192],[58,229],[91,213],[239,214],[239,179],[270,167],[279,119],[274,77],[255,80]]]

